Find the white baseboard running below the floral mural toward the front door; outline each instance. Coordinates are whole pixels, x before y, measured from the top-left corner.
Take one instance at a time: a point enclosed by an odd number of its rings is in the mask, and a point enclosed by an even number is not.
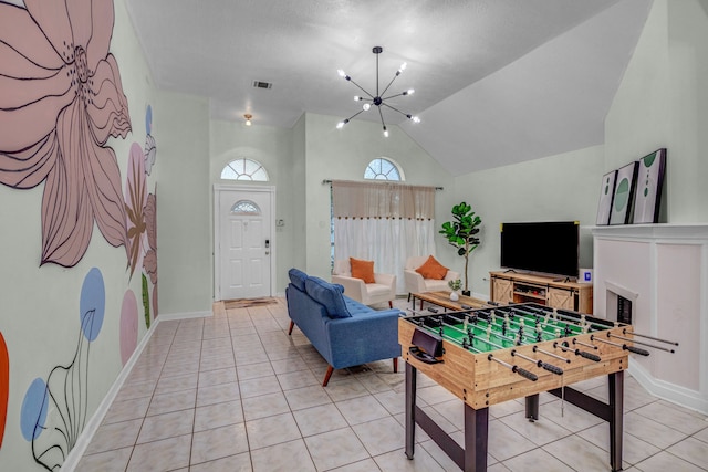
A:
[[[66,460],[64,461],[61,468],[62,472],[73,472],[76,465],[79,465],[79,461],[84,455],[84,452],[86,452],[86,448],[88,447],[88,444],[91,443],[91,440],[93,439],[94,434],[98,430],[98,427],[103,421],[103,418],[108,412],[108,408],[111,408],[113,400],[115,400],[115,397],[118,395],[118,391],[121,391],[123,384],[125,384],[125,379],[131,374],[131,370],[133,370],[135,363],[137,363],[137,359],[140,357],[140,354],[143,354],[145,346],[147,346],[147,342],[150,339],[150,337],[155,333],[155,329],[157,328],[159,323],[174,321],[174,319],[208,317],[214,314],[210,311],[209,312],[205,311],[205,312],[173,313],[173,314],[166,314],[166,315],[160,314],[157,318],[155,318],[155,321],[153,321],[150,328],[147,331],[145,336],[143,336],[143,339],[140,339],[140,344],[136,346],[135,350],[133,352],[133,355],[131,356],[128,361],[125,363],[125,365],[123,366],[123,369],[121,369],[121,371],[118,373],[118,376],[116,377],[115,381],[111,386],[111,389],[108,389],[108,392],[106,394],[106,396],[103,398],[103,400],[98,405],[98,408],[96,408],[96,411],[93,413],[91,419],[86,422],[84,430],[81,432],[81,434],[79,436],[79,439],[76,440],[76,444],[74,444],[72,450],[66,455]]]

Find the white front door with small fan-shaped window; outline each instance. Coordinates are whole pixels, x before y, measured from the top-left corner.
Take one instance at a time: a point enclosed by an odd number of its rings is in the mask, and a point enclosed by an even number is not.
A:
[[[217,298],[271,296],[272,188],[216,190]]]

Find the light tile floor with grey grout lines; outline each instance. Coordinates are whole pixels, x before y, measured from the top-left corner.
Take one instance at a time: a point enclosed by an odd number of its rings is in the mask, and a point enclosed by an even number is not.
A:
[[[407,306],[398,300],[397,306]],[[458,471],[420,430],[404,447],[404,374],[392,361],[336,370],[298,329],[284,300],[159,323],[77,471]],[[425,376],[418,405],[461,441],[462,403]],[[606,399],[606,378],[575,385]],[[608,471],[607,424],[548,394],[490,407],[490,471]],[[705,416],[625,376],[624,469],[707,471]]]

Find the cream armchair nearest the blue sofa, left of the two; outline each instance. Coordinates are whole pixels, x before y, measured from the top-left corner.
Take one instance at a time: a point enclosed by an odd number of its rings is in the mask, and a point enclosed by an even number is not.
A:
[[[396,275],[374,273],[375,283],[364,283],[361,279],[352,276],[350,261],[334,261],[332,270],[332,283],[344,286],[344,295],[356,300],[364,305],[375,305],[388,302],[388,307],[393,308],[393,300],[396,297]]]

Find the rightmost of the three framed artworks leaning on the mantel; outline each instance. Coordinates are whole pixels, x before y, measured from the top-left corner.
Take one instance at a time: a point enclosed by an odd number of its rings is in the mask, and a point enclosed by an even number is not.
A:
[[[657,149],[637,161],[633,223],[659,222],[665,172],[666,148]]]

